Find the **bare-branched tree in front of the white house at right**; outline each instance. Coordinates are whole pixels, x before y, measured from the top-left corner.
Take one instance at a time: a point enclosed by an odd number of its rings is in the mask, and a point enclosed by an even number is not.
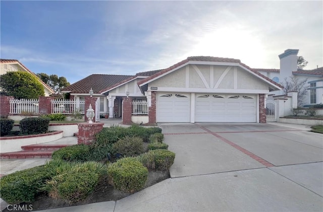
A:
[[[284,79],[282,85],[284,86],[283,91],[285,95],[290,91],[297,92],[297,106],[301,106],[304,102],[304,97],[307,94],[307,79],[299,80],[295,77],[289,77],[289,80],[287,80],[287,78]]]

